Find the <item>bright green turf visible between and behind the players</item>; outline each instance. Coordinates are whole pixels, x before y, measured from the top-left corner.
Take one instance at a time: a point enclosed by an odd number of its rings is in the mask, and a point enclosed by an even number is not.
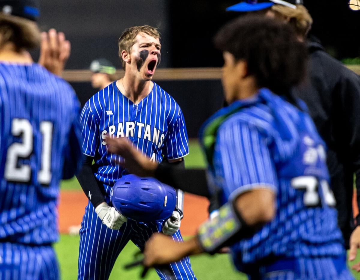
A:
[[[201,149],[197,141],[190,141],[190,153],[185,157],[185,164],[187,167],[204,167],[205,161]],[[63,190],[81,190],[80,185],[76,179],[71,179],[62,182]],[[78,236],[68,236],[61,235],[60,240],[55,244],[55,250],[58,254],[58,259],[60,263],[60,270],[62,274],[62,279],[76,279],[77,278],[77,258],[78,258],[78,246],[79,246],[79,237]],[[132,261],[133,256],[139,249],[129,242],[123,251],[120,254],[120,257],[117,259],[117,262],[114,265],[110,279],[119,280],[119,279],[139,279],[140,268],[133,268],[131,270],[124,270],[123,266],[126,263]],[[349,263],[349,266],[352,264],[360,262],[360,252],[359,256],[354,262]],[[247,279],[246,276],[236,272],[231,264],[229,256],[227,254],[217,255],[217,256],[195,256],[191,258],[191,263],[196,277],[199,280],[242,280]],[[225,273],[224,273],[225,272]],[[360,280],[360,273],[354,273],[356,279]],[[154,270],[151,270],[146,279],[159,279]]]

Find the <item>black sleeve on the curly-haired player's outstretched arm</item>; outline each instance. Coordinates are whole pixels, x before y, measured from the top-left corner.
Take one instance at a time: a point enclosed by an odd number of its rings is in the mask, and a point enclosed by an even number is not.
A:
[[[205,169],[184,169],[174,164],[159,164],[155,171],[155,178],[188,193],[209,197]]]

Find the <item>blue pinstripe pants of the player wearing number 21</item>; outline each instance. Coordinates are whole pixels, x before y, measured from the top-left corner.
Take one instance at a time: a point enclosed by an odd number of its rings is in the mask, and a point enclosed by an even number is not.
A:
[[[0,280],[57,280],[58,263],[51,246],[0,243]]]

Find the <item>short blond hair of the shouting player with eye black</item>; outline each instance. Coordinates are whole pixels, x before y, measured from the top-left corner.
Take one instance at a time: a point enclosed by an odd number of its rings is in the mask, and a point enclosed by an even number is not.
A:
[[[131,47],[136,43],[136,36],[139,33],[146,33],[156,39],[160,39],[160,33],[157,31],[157,28],[143,25],[143,26],[134,26],[127,28],[119,38],[119,57],[122,62],[122,69],[125,70],[126,63],[122,60],[121,53],[122,51],[126,51],[130,53]]]

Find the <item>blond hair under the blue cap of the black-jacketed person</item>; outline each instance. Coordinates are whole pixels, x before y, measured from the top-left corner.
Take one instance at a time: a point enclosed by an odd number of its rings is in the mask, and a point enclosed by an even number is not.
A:
[[[296,9],[292,9],[284,5],[273,5],[271,10],[289,19],[289,23],[293,25],[298,35],[306,37],[311,29],[312,17],[309,11],[303,5],[296,5]]]

